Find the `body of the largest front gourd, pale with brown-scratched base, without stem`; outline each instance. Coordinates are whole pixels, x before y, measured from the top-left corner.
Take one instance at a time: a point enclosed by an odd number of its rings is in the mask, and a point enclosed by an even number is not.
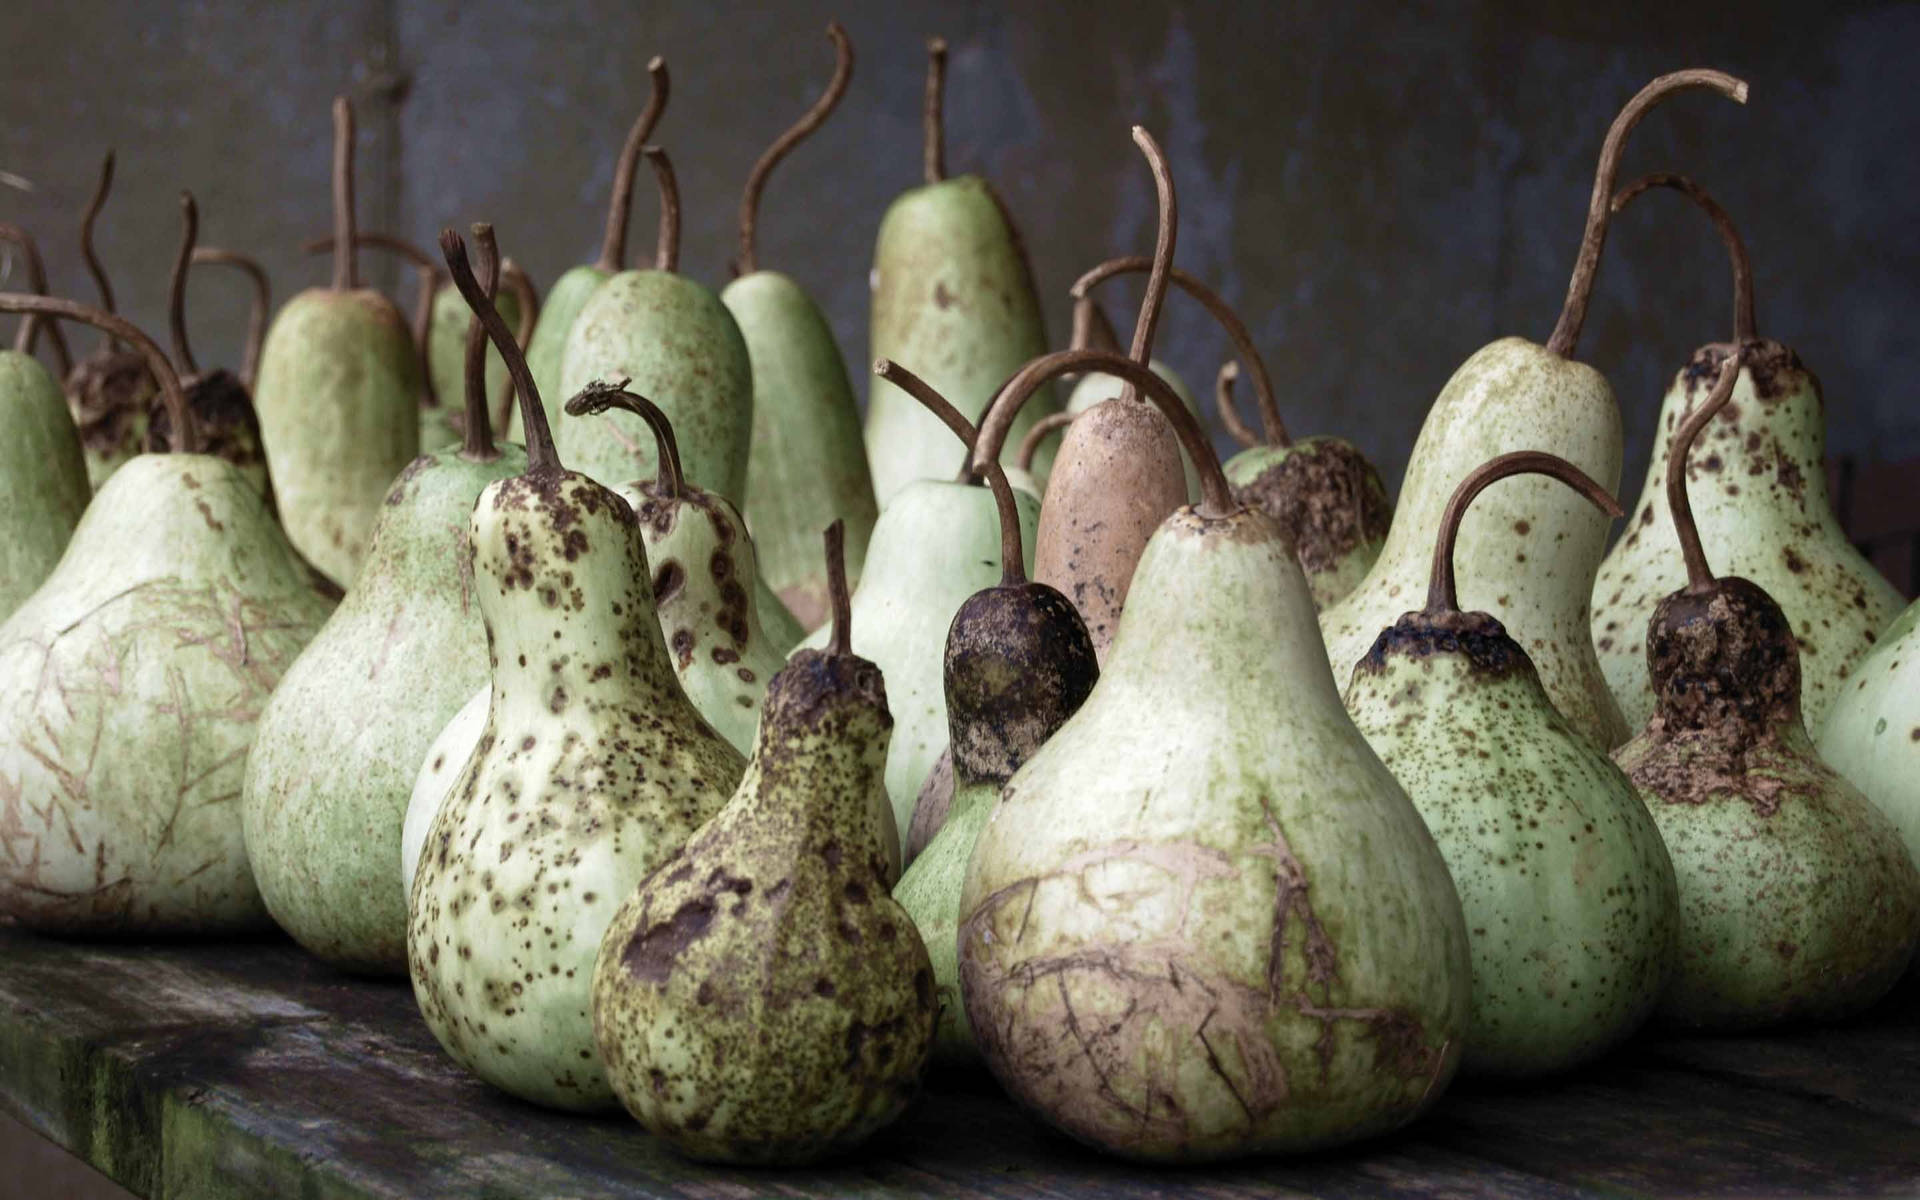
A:
[[[1394,1129],[1459,1064],[1446,864],[1348,720],[1261,513],[1183,509],[968,866],[960,985],[1027,1108],[1154,1162]]]

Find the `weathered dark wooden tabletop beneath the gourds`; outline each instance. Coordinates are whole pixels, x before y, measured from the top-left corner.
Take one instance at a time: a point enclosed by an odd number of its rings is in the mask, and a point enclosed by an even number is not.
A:
[[[0,931],[0,1110],[134,1192],[192,1200],[1920,1196],[1920,989],[1847,1029],[1642,1041],[1548,1085],[1455,1087],[1413,1129],[1309,1160],[1117,1164],[979,1077],[935,1083],[851,1162],[716,1171],[624,1117],[493,1092],[440,1054],[405,985],[288,943]]]

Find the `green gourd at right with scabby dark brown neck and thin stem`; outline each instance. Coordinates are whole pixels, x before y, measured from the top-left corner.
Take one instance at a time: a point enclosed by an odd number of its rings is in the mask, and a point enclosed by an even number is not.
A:
[[[1920,939],[1920,870],[1899,829],[1828,764],[1801,720],[1799,655],[1780,605],[1715,576],[1688,503],[1688,451],[1734,394],[1740,342],[1667,465],[1688,584],[1647,630],[1655,708],[1615,753],[1680,881],[1680,956],[1659,1018],[1697,1029],[1853,1016]]]

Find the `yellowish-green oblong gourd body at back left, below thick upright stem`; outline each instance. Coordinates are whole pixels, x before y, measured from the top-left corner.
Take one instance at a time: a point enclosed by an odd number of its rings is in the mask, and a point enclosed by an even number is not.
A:
[[[420,363],[378,292],[286,301],[259,353],[253,407],[294,549],[353,582],[388,486],[420,453]]]

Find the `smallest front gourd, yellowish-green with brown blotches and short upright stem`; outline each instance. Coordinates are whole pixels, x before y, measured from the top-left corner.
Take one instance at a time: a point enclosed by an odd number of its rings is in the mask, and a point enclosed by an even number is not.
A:
[[[593,966],[620,1102],[708,1162],[860,1144],[912,1102],[933,1041],[933,970],[872,820],[893,722],[849,647],[839,524],[828,559],[833,641],[774,676],[739,791],[628,897]]]

